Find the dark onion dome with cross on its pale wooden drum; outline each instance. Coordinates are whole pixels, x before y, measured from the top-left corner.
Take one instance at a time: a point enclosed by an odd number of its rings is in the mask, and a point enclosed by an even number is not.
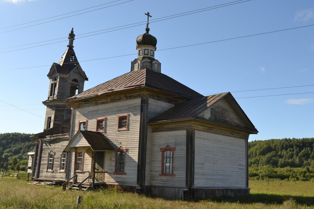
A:
[[[161,63],[155,59],[157,39],[149,34],[149,17],[152,16],[149,15],[149,12],[145,14],[147,15],[146,32],[143,35],[138,36],[136,39],[138,58],[131,62],[131,71],[148,68],[155,72],[161,72]]]

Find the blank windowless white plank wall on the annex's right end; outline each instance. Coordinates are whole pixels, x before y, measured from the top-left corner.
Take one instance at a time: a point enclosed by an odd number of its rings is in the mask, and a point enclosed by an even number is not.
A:
[[[246,188],[245,140],[195,131],[195,188]]]

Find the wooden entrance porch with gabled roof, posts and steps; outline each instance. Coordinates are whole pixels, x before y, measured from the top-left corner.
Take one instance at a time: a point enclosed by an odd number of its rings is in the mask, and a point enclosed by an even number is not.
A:
[[[84,191],[93,189],[97,185],[106,185],[105,152],[113,150],[114,148],[102,133],[78,131],[64,149],[64,152],[72,153],[74,159],[71,170],[68,170],[71,178],[63,184],[63,190],[67,186],[68,189]]]

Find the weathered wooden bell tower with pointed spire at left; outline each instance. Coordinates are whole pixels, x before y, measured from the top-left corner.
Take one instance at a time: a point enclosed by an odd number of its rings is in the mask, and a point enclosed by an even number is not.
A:
[[[83,92],[84,82],[88,81],[73,50],[74,37],[75,34],[72,28],[68,37],[67,50],[58,63],[52,63],[47,75],[50,80],[48,97],[46,101],[42,102],[47,107],[44,131],[54,126],[62,126],[63,123],[70,120],[71,108],[69,105],[62,104],[61,100]],[[54,131],[53,134],[57,133]]]

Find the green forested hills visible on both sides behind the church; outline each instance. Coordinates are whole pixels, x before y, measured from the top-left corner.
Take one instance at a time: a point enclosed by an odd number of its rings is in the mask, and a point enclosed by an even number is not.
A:
[[[24,170],[35,142],[25,133],[0,133],[0,156],[9,169]],[[314,182],[314,138],[270,139],[248,143],[249,178]]]

